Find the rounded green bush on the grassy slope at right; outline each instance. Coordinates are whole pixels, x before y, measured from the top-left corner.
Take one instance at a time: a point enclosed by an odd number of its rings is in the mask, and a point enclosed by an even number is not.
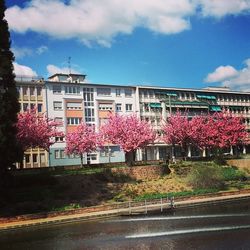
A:
[[[193,168],[187,177],[188,183],[194,188],[221,188],[224,186],[222,169],[216,165]]]

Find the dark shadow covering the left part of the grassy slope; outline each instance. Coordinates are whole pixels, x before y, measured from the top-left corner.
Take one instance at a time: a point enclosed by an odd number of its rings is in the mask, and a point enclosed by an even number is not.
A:
[[[0,217],[101,205],[130,180],[110,169],[93,174],[14,175],[9,186],[0,190]]]

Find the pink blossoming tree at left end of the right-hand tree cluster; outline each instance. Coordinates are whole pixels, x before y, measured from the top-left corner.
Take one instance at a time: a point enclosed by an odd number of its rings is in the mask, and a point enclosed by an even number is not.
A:
[[[187,147],[192,142],[192,130],[187,114],[177,111],[171,114],[162,125],[163,140],[172,145],[172,156],[175,156],[175,145],[180,145],[182,154],[186,157]]]

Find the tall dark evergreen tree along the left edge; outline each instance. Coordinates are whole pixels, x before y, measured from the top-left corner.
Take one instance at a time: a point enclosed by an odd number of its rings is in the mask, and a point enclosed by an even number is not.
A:
[[[10,51],[10,33],[5,20],[5,1],[0,0],[0,175],[19,160],[16,140],[17,113],[20,110],[13,73],[13,53]],[[0,177],[0,178],[1,178]],[[3,179],[0,180],[3,182]]]

